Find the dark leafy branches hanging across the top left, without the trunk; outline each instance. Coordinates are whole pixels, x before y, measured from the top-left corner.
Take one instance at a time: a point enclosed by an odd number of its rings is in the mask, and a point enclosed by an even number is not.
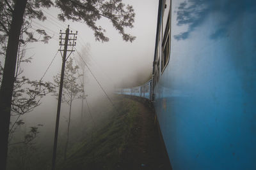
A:
[[[15,1],[3,0],[0,1],[0,55],[5,54],[6,41],[10,35],[10,25],[13,16],[13,8]],[[134,9],[129,4],[125,6],[122,0],[95,0],[95,1],[79,1],[79,0],[28,0],[24,16],[24,24],[22,27],[22,34],[24,38],[20,38],[20,43],[43,41],[45,43],[51,38],[46,34],[44,29],[33,29],[31,23],[33,19],[44,21],[45,17],[42,8],[50,8],[55,6],[61,9],[58,15],[60,20],[73,20],[77,22],[84,22],[88,27],[94,31],[94,36],[97,41],[109,41],[105,36],[106,30],[97,25],[97,20],[100,18],[108,18],[113,24],[113,27],[122,35],[125,41],[133,41],[134,36],[125,33],[125,27],[133,27],[134,23]],[[42,36],[40,39],[35,38],[35,33]]]

